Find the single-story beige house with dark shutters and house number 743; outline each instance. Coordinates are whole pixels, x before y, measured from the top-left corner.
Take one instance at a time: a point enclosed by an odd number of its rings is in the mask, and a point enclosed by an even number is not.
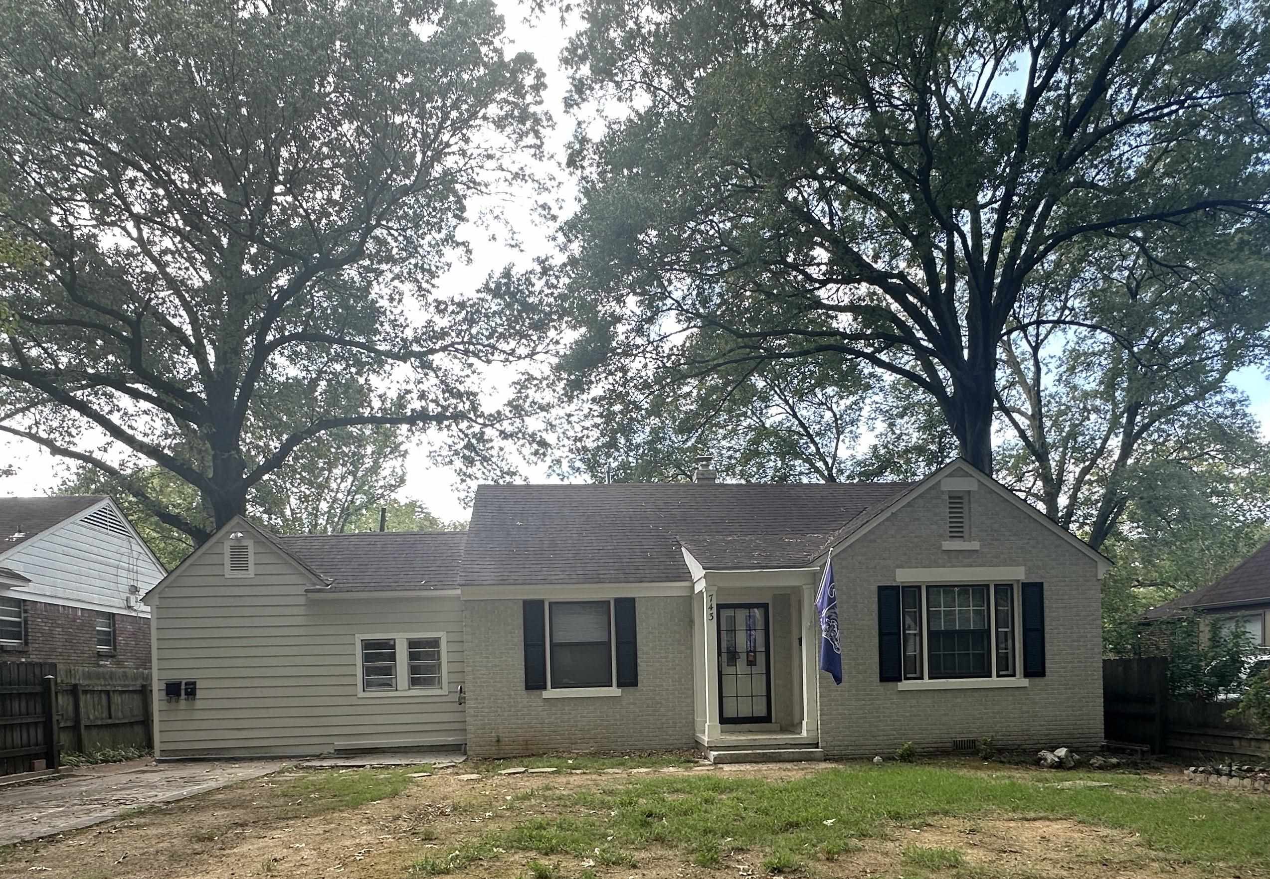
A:
[[[818,660],[831,563],[841,685]],[[466,533],[239,518],[147,596],[156,751],[1096,747],[1107,564],[961,460],[917,483],[481,486]]]

